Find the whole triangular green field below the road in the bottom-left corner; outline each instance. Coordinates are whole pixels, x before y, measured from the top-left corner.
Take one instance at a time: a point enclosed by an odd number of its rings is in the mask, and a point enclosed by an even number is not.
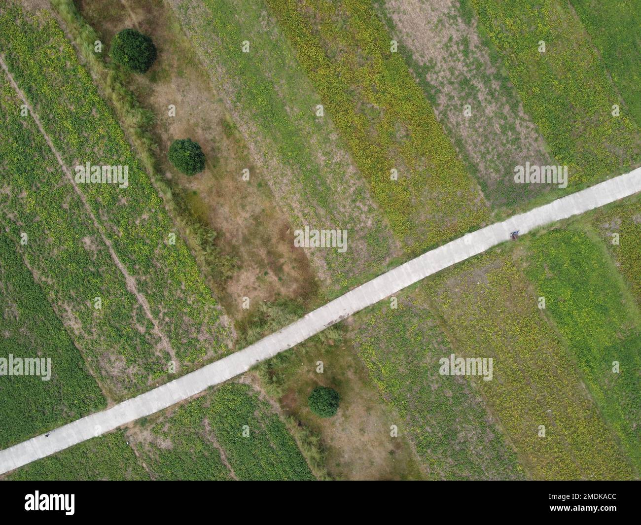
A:
[[[228,383],[27,465],[10,479],[314,479],[261,398],[249,385]]]

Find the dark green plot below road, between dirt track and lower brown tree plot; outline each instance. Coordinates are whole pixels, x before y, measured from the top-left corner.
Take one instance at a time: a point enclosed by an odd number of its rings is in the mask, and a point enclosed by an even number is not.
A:
[[[283,422],[248,385],[222,385],[147,431],[137,447],[157,479],[313,479]]]

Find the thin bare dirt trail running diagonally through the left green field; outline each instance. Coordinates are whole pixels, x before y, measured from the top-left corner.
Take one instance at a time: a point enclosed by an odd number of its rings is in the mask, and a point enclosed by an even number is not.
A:
[[[104,235],[104,229],[101,226],[101,224],[99,224],[99,222],[97,221],[94,213],[91,211],[91,207],[87,203],[87,197],[78,188],[78,185],[76,184],[74,176],[71,174],[71,171],[69,171],[69,167],[67,167],[67,165],[65,165],[65,163],[63,162],[62,156],[60,156],[60,153],[58,152],[56,147],[53,145],[53,142],[51,141],[51,137],[49,137],[49,135],[47,134],[47,131],[45,131],[44,129],[44,126],[42,126],[42,122],[40,122],[40,118],[38,117],[38,114],[35,112],[35,110],[33,110],[33,108],[31,107],[31,104],[29,104],[29,101],[24,96],[24,93],[18,87],[17,83],[13,79],[13,76],[9,71],[8,67],[6,66],[6,63],[4,63],[3,56],[0,56],[0,67],[2,67],[4,73],[6,74],[11,84],[11,87],[16,92],[17,96],[19,96],[22,102],[24,102],[24,104],[27,106],[27,109],[29,110],[29,115],[33,117],[33,121],[38,126],[38,129],[40,130],[42,137],[44,137],[44,139],[46,140],[47,145],[49,146],[49,149],[51,149],[51,152],[56,157],[56,160],[58,161],[58,164],[60,164],[60,167],[62,168],[63,173],[65,174],[65,176],[67,176],[67,178],[71,182],[71,185],[74,188],[74,191],[76,192],[76,194],[78,194],[78,197],[80,197],[80,200],[83,203],[83,206],[85,206],[85,210],[87,210],[87,214],[91,218],[92,222],[94,223],[94,226],[96,227],[96,230],[100,234],[100,237],[103,239],[104,244],[109,250],[109,253],[113,259],[113,263],[122,272],[128,292],[133,294],[133,296],[136,297],[138,304],[140,304],[140,306],[142,307],[142,310],[145,312],[145,315],[147,316],[147,319],[151,321],[151,324],[154,327],[153,329],[154,334],[157,335],[158,338],[160,338],[163,348],[167,352],[169,352],[169,354],[171,354],[171,356],[173,357],[174,351],[171,348],[171,343],[169,342],[169,339],[167,338],[167,336],[163,334],[162,331],[160,330],[160,327],[158,326],[158,321],[154,319],[153,314],[151,313],[151,308],[149,307],[149,303],[147,302],[146,297],[138,291],[138,287],[136,285],[136,279],[133,276],[131,276],[131,274],[129,274],[127,269],[122,264],[120,258],[115,253],[111,241],[106,237],[106,235]]]

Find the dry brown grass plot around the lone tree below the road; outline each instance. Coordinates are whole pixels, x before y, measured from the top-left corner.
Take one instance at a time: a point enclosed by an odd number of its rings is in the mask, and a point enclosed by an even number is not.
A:
[[[342,324],[279,354],[258,368],[265,391],[322,447],[328,476],[340,480],[424,479],[426,474],[394,406],[379,394]],[[322,370],[319,366],[322,365]],[[331,418],[311,412],[307,397],[318,385],[335,388],[341,408]],[[399,435],[390,436],[395,422]]]

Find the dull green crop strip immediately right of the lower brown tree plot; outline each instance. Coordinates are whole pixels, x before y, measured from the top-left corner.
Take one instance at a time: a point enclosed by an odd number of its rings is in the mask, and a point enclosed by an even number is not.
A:
[[[381,395],[403,417],[429,478],[523,478],[478,387],[438,373],[438,360],[454,350],[424,306],[424,290],[397,299],[398,308],[376,306],[359,314],[354,347]]]

